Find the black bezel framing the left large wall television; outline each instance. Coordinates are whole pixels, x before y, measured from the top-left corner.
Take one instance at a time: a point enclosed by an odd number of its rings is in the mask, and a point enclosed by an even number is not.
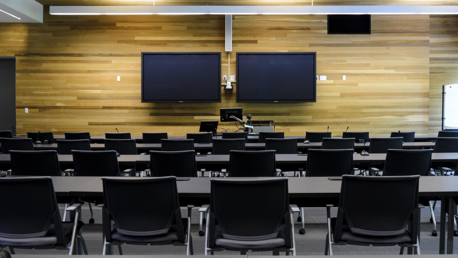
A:
[[[145,100],[144,98],[144,84],[143,84],[143,56],[145,55],[218,55],[218,100]],[[142,103],[221,103],[221,52],[142,52]]]

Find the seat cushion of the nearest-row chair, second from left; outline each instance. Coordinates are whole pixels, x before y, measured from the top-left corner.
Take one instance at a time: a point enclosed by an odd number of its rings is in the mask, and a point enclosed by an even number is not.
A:
[[[183,230],[186,233],[188,219],[183,220]],[[138,243],[158,243],[158,242],[172,242],[178,241],[178,233],[176,225],[171,225],[167,234],[155,235],[155,236],[128,236],[120,234],[116,229],[111,233],[111,238],[117,241],[125,242],[138,242]]]

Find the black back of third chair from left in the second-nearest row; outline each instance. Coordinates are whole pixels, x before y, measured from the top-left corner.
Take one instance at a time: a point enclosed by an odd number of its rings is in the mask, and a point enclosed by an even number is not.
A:
[[[149,151],[153,176],[197,176],[194,151]]]

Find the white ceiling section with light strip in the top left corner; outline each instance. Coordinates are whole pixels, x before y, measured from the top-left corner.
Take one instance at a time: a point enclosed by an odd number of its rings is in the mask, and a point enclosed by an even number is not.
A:
[[[0,0],[0,10],[0,22],[43,22],[43,5],[35,0]]]

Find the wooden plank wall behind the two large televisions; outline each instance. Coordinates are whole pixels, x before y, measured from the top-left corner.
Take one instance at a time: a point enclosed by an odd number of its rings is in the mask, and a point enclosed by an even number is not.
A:
[[[371,35],[327,35],[326,16],[235,16],[231,74],[237,51],[316,51],[318,75],[327,75],[317,83],[316,103],[235,103],[235,90],[224,88],[222,103],[141,103],[141,51],[221,51],[227,75],[224,16],[50,16],[45,10],[43,24],[0,23],[0,56],[17,56],[19,134],[103,135],[118,128],[185,135],[200,120],[219,120],[220,107],[272,118],[287,135],[327,126],[334,134],[347,126],[426,133],[430,24],[428,15],[381,15],[372,17]]]

